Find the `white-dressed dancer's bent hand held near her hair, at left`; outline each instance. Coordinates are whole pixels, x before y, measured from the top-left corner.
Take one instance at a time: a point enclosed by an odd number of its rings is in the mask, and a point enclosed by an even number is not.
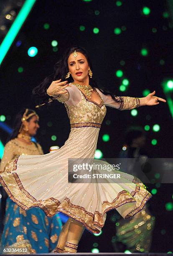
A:
[[[66,93],[66,88],[69,86],[68,81],[61,82],[61,79],[53,81],[47,89],[47,94],[52,97],[57,97],[60,94]]]

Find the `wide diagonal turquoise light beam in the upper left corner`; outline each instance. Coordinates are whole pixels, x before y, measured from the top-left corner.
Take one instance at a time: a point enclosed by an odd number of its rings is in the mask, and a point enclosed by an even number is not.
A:
[[[15,37],[20,31],[21,26],[25,22],[35,2],[36,0],[25,0],[23,6],[21,7],[17,17],[15,18],[7,35],[5,36],[3,42],[0,45],[0,64],[2,63],[8,50],[10,49],[10,46],[13,44]]]

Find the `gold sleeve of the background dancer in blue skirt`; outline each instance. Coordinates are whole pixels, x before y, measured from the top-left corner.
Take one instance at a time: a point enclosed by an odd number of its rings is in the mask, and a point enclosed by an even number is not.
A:
[[[0,172],[4,171],[5,165],[15,157],[13,151],[13,142],[9,141],[4,148],[3,158],[0,162]]]

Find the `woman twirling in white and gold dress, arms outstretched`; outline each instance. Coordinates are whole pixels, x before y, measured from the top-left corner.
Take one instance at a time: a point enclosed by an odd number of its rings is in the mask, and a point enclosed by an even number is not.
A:
[[[63,81],[64,77],[71,83]],[[140,180],[119,171],[112,171],[120,174],[119,183],[107,179],[103,183],[97,179],[95,183],[68,183],[68,159],[94,159],[106,106],[125,110],[158,105],[158,101],[165,100],[156,97],[155,91],[139,99],[116,97],[99,89],[92,79],[91,61],[80,47],[69,49],[55,65],[54,74],[33,92],[40,105],[53,99],[64,103],[71,124],[69,138],[54,154],[16,157],[0,175],[0,182],[10,198],[25,210],[41,207],[48,216],[60,211],[71,217],[61,231],[55,251],[76,252],[84,228],[99,233],[106,212],[112,209],[123,218],[132,217],[142,210],[151,194]],[[92,169],[91,173],[98,172]]]

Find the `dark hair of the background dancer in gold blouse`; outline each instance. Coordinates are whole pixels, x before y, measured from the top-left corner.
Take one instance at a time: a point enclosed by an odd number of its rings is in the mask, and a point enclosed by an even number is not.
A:
[[[13,122],[13,132],[10,134],[10,136],[8,137],[6,143],[14,138],[17,138],[20,127],[22,125],[22,118],[23,118],[23,114],[25,113],[26,108],[22,108],[17,115],[15,115],[15,119]],[[35,113],[34,110],[32,109],[28,109],[26,116],[30,115],[31,113]],[[33,118],[34,115],[31,115],[30,118],[28,118],[26,121],[29,122],[31,120],[31,118]]]

